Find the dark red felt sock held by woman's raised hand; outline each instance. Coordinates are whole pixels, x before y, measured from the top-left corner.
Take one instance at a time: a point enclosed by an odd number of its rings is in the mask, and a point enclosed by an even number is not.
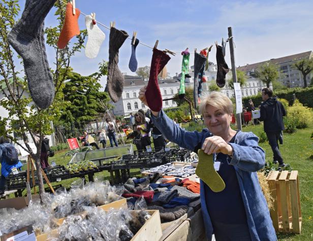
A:
[[[155,112],[162,109],[162,94],[158,84],[158,75],[170,59],[170,56],[163,51],[153,49],[150,77],[145,95],[149,108]]]

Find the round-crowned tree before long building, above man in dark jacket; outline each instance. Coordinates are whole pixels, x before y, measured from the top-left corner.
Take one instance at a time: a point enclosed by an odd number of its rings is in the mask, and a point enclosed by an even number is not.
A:
[[[279,77],[278,66],[272,62],[261,64],[255,73],[255,76],[260,78],[266,87],[269,88],[270,83],[277,80]]]

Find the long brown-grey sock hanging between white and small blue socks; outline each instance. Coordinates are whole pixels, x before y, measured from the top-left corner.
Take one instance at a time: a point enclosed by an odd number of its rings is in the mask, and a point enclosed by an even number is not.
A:
[[[118,64],[118,50],[128,38],[128,33],[111,27],[109,40],[109,64],[107,90],[113,102],[117,102],[123,92],[124,77],[120,72]]]

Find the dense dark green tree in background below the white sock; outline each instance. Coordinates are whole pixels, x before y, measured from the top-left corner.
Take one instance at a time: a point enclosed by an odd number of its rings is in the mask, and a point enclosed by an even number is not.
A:
[[[100,91],[100,77],[107,75],[107,62],[100,64],[100,71],[89,76],[81,76],[70,72],[67,76],[62,92],[64,100],[68,102],[60,117],[65,123],[71,123],[73,127],[82,128],[87,122],[103,112],[101,100],[108,99],[107,92]]]

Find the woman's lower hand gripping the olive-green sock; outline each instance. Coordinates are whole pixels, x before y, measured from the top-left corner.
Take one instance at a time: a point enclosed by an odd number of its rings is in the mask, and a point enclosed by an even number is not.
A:
[[[207,137],[201,148],[206,154],[210,155],[212,153],[222,152],[226,155],[233,155],[233,148],[221,136],[211,136]]]

